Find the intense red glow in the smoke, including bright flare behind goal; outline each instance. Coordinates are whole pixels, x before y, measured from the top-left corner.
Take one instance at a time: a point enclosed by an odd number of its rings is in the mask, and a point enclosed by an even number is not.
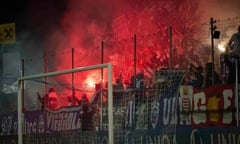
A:
[[[198,30],[194,27],[198,23],[196,5],[190,0],[128,3],[72,0],[60,21],[61,32],[52,33],[46,47],[55,47],[54,68],[63,70],[71,68],[71,48],[74,48],[74,67],[100,64],[101,42],[104,41],[103,59],[104,63],[113,64],[113,79],[122,75],[123,81],[130,81],[134,72],[133,35],[137,36],[137,72],[151,77],[155,70],[169,66],[169,27],[172,26],[173,66],[186,68],[186,54],[199,47],[192,35]],[[196,63],[204,61],[193,57]],[[86,83],[83,88],[86,90],[92,89],[100,80],[100,72],[87,72],[76,74],[74,81],[75,85]],[[71,85],[71,76],[61,81]]]

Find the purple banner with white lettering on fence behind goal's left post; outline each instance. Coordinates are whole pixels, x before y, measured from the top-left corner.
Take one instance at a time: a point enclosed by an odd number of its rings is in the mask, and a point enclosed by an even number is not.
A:
[[[27,111],[23,114],[23,133],[39,134],[81,129],[81,107],[57,111]],[[17,112],[0,116],[1,135],[17,133]]]

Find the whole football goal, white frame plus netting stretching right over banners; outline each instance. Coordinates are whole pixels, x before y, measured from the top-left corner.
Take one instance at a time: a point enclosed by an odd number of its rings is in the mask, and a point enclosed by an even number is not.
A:
[[[112,83],[110,64],[23,77],[18,89],[19,143],[176,143],[184,74],[138,73],[127,87],[120,79]]]

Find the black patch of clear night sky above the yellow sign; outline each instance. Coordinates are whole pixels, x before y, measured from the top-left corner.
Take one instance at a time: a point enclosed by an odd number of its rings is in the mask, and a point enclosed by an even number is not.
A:
[[[51,23],[58,23],[64,12],[65,0],[4,0],[1,1],[0,23],[16,23],[17,37],[24,32],[45,37],[44,30]]]

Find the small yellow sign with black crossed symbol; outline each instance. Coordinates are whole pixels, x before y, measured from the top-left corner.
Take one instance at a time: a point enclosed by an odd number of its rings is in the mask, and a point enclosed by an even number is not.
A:
[[[0,44],[16,42],[15,23],[0,24]]]

